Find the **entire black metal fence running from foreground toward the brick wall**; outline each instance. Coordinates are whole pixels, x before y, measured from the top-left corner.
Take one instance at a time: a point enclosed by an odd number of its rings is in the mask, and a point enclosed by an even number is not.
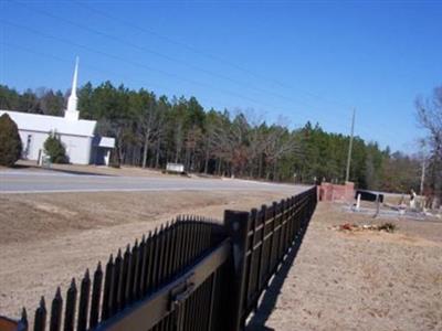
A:
[[[57,288],[50,312],[42,298],[33,330],[241,330],[315,206],[313,188],[223,224],[179,217],[72,279],[65,302]]]

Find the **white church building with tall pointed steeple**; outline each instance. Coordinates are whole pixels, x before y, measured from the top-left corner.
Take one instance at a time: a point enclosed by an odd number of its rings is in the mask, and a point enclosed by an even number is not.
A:
[[[23,146],[22,158],[40,161],[44,154],[44,141],[55,132],[66,149],[71,163],[108,164],[115,139],[95,135],[96,120],[80,119],[77,110],[78,58],[75,63],[72,90],[67,100],[64,117],[1,110],[0,116],[8,114],[19,127]]]

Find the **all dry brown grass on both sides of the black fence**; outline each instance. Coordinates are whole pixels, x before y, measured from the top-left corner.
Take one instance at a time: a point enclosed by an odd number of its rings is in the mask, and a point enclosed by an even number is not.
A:
[[[62,193],[0,196],[0,314],[105,260],[179,213],[222,218],[290,192]],[[344,223],[398,231],[343,233]],[[442,223],[373,220],[320,203],[265,325],[275,330],[442,330]],[[265,330],[265,329],[264,329]]]

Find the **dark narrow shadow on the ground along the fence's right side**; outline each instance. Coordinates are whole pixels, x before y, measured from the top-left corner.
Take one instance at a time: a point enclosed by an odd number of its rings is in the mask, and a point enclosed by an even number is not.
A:
[[[275,331],[275,329],[266,327],[265,322],[275,308],[277,296],[281,293],[285,278],[287,278],[287,275],[293,267],[293,263],[295,261],[301,244],[303,243],[304,235],[307,232],[308,224],[309,222],[299,234],[299,239],[295,241],[295,244],[287,254],[285,260],[282,263],[280,270],[275,274],[270,282],[255,313],[252,316],[245,328],[246,331]]]

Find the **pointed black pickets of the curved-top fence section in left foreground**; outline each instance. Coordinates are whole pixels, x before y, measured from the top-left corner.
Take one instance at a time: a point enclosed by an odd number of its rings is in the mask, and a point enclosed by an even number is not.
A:
[[[200,233],[199,236],[196,235],[197,232]],[[81,322],[84,325],[88,323],[90,329],[94,329],[119,314],[126,307],[131,307],[147,296],[151,296],[166,281],[179,277],[189,264],[193,264],[201,254],[224,238],[227,238],[227,234],[221,221],[196,215],[179,215],[172,222],[167,222],[166,225],[143,235],[143,238],[136,239],[134,245],[127,245],[125,249],[119,248],[118,254],[110,254],[108,263],[103,267],[102,263],[98,263],[93,277],[90,277],[90,273],[86,270],[82,281],[75,282],[73,279],[64,298],[65,302],[60,288],[57,288],[52,300],[51,311],[46,310],[45,300],[42,298],[35,310],[34,330],[48,330],[48,322],[50,324],[53,322],[66,323],[67,316],[71,318],[70,325],[72,328]],[[175,245],[176,241],[180,241],[183,247]],[[172,249],[180,252],[179,264],[171,258]],[[155,260],[155,263],[149,265],[150,269],[148,270],[147,263],[149,260]],[[82,285],[82,288],[77,288],[76,284]],[[94,289],[95,284],[97,284],[96,289]],[[83,296],[82,291],[84,291]],[[90,296],[93,300],[91,302],[88,302]],[[78,301],[75,303],[76,299]],[[55,310],[53,309],[54,305],[56,306]],[[76,309],[77,313],[75,313]],[[28,317],[24,309],[22,316],[20,321],[11,320],[17,324],[14,330],[27,330]],[[67,330],[71,329],[67,328]]]

